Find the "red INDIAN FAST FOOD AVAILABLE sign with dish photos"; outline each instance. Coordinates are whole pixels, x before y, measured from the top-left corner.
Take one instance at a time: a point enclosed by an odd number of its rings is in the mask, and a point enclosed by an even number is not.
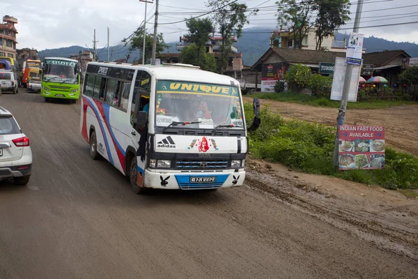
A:
[[[385,168],[385,127],[339,126],[339,169]]]

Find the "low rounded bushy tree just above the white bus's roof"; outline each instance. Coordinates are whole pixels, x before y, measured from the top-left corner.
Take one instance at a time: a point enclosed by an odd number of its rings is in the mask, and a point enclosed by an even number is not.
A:
[[[210,72],[217,73],[217,61],[215,56],[211,53],[207,53],[205,49],[199,50],[199,58],[196,56],[197,45],[192,44],[183,48],[180,53],[180,60],[182,63],[192,64],[199,66],[202,70],[208,70]]]

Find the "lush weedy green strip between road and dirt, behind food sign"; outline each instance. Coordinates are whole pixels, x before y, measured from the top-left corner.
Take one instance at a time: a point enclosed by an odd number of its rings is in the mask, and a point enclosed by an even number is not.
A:
[[[245,105],[252,119],[252,105]],[[261,111],[261,126],[249,132],[249,150],[255,158],[283,163],[311,174],[336,176],[385,188],[418,189],[418,158],[386,149],[385,169],[339,171],[332,164],[336,128],[299,120],[285,121],[268,107]]]

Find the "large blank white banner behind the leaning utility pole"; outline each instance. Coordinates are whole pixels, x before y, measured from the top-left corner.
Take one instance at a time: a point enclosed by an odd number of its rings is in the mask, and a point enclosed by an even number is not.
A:
[[[350,93],[348,101],[357,101],[357,92],[359,90],[360,66],[355,66],[351,74]],[[344,80],[346,80],[347,63],[343,57],[335,58],[334,76],[332,78],[331,100],[341,100],[343,98]]]

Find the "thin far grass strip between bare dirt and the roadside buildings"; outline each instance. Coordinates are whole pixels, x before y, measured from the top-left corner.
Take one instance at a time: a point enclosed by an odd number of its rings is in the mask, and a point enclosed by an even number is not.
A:
[[[340,101],[330,100],[330,98],[319,98],[295,93],[257,93],[255,97],[268,100],[277,100],[279,102],[297,103],[303,105],[311,105],[314,107],[334,107],[338,108]],[[348,110],[373,110],[384,109],[386,107],[394,107],[398,105],[413,105],[417,102],[413,100],[357,100],[356,103],[349,102]]]

